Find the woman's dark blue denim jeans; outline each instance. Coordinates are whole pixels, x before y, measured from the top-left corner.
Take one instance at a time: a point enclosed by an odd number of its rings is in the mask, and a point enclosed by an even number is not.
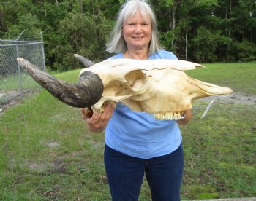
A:
[[[138,200],[144,173],[153,201],[180,200],[182,145],[170,154],[151,159],[130,157],[105,145],[104,162],[113,201]]]

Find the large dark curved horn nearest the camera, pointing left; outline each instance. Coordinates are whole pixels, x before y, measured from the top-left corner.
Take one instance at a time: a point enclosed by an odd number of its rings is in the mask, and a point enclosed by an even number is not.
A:
[[[20,66],[53,96],[69,106],[85,108],[94,105],[102,97],[103,84],[97,74],[85,71],[80,74],[75,84],[56,79],[54,76],[40,71],[36,66],[23,58],[17,58]]]

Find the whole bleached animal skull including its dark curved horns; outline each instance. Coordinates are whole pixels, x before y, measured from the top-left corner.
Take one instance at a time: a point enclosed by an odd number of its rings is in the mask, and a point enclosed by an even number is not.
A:
[[[91,106],[99,112],[104,111],[106,103],[121,101],[130,109],[146,111],[157,119],[179,119],[181,111],[192,108],[192,101],[233,91],[187,76],[184,71],[204,67],[184,60],[104,60],[80,71],[76,84],[39,71],[22,58],[17,60],[60,101],[75,107]],[[86,65],[88,60],[84,61]]]

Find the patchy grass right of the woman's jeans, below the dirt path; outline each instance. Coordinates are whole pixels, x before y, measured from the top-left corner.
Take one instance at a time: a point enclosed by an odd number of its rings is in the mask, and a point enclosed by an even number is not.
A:
[[[196,120],[199,114],[195,114],[194,122],[181,127],[186,198],[255,196],[255,105],[215,103],[205,119]],[[205,108],[206,103],[195,106]]]

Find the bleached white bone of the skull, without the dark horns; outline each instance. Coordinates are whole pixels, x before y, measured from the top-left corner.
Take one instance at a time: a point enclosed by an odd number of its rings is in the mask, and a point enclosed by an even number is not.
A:
[[[91,108],[104,111],[105,103],[122,101],[130,109],[146,111],[157,119],[179,119],[192,101],[210,95],[228,94],[230,88],[192,79],[186,70],[204,68],[184,60],[105,60],[83,69],[98,74],[104,90]]]

